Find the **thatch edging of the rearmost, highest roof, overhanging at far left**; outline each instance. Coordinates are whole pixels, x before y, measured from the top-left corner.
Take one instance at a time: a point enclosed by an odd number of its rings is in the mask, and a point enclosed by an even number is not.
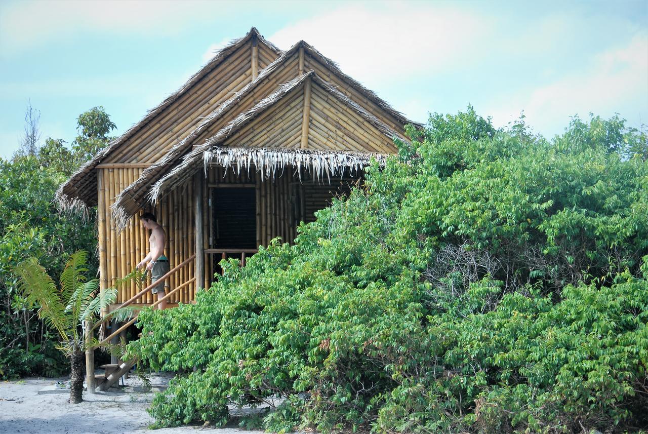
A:
[[[104,160],[108,155],[111,154],[114,150],[119,148],[119,146],[130,139],[137,131],[141,130],[156,118],[159,113],[165,110],[172,102],[178,100],[182,95],[184,95],[192,86],[200,82],[200,80],[214,68],[218,67],[227,57],[233,52],[237,51],[242,45],[248,43],[251,38],[257,38],[257,40],[264,43],[268,48],[272,49],[274,52],[280,52],[280,50],[275,47],[270,41],[267,41],[259,33],[259,30],[252,27],[249,30],[246,36],[232,41],[221,49],[220,51],[214,54],[214,57],[209,60],[197,73],[191,76],[189,80],[182,86],[178,91],[167,97],[161,104],[156,108],[148,111],[146,116],[133,125],[128,131],[121,135],[118,139],[115,139],[98,152],[97,155],[86,164],[82,165],[76,172],[63,183],[58,190],[56,191],[56,201],[58,201],[59,206],[62,209],[84,209],[84,207],[93,207],[97,205],[97,170],[96,167]]]

